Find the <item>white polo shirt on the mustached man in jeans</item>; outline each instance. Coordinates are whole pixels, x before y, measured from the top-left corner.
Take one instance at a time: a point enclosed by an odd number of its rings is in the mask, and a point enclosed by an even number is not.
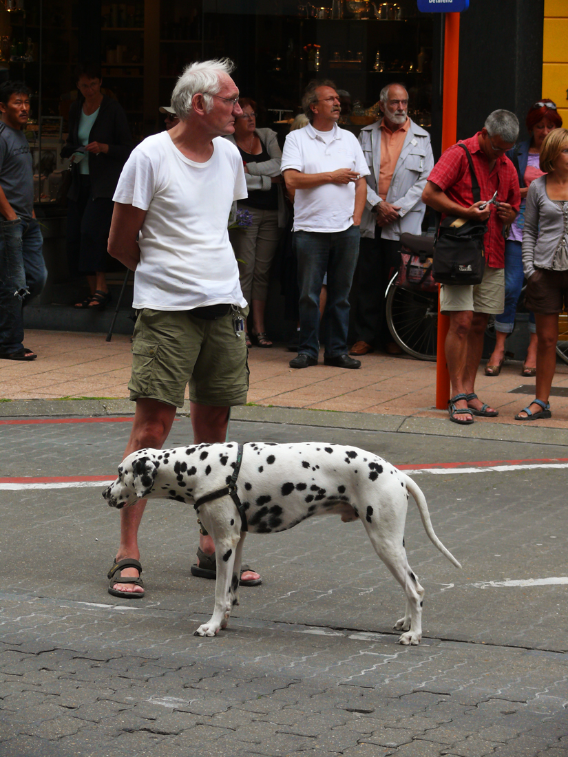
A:
[[[317,132],[311,123],[290,132],[282,151],[282,171],[324,173],[350,168],[367,176],[369,167],[359,142],[351,132],[334,124],[330,132]],[[313,189],[296,189],[294,231],[342,232],[353,223],[355,184],[323,184]]]

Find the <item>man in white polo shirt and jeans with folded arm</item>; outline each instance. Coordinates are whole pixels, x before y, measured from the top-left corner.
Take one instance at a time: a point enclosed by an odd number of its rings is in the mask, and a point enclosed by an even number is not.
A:
[[[369,168],[351,132],[337,126],[341,103],[329,80],[307,85],[302,107],[310,123],[286,137],[282,175],[295,192],[294,247],[300,288],[300,341],[291,368],[317,365],[320,291],[327,271],[326,366],[359,368],[347,354],[349,291],[359,254],[359,224]]]

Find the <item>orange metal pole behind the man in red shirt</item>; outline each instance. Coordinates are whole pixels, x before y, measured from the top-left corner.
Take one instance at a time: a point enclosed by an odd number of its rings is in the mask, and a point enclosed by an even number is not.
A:
[[[444,30],[444,94],[442,100],[442,151],[454,145],[457,138],[457,67],[460,57],[460,14],[445,14]],[[450,374],[444,344],[450,319],[438,312],[438,359],[436,363],[436,407],[445,410],[450,398]]]

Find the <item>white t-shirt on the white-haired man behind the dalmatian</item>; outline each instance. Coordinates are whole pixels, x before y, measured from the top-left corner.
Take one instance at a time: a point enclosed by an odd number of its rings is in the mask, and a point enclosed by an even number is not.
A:
[[[246,305],[227,232],[233,201],[247,197],[245,172],[235,145],[217,137],[213,147],[206,163],[195,163],[161,132],[126,161],[113,199],[148,211],[134,276],[136,309]]]

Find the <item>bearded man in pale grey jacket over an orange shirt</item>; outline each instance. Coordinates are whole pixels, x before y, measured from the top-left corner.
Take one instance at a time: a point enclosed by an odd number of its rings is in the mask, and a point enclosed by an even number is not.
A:
[[[385,291],[400,264],[401,234],[420,234],[426,210],[422,192],[434,165],[429,133],[407,115],[404,86],[385,86],[379,107],[382,118],[359,135],[370,175],[357,267],[357,341],[350,355],[366,355],[375,347],[401,351],[386,325]]]

